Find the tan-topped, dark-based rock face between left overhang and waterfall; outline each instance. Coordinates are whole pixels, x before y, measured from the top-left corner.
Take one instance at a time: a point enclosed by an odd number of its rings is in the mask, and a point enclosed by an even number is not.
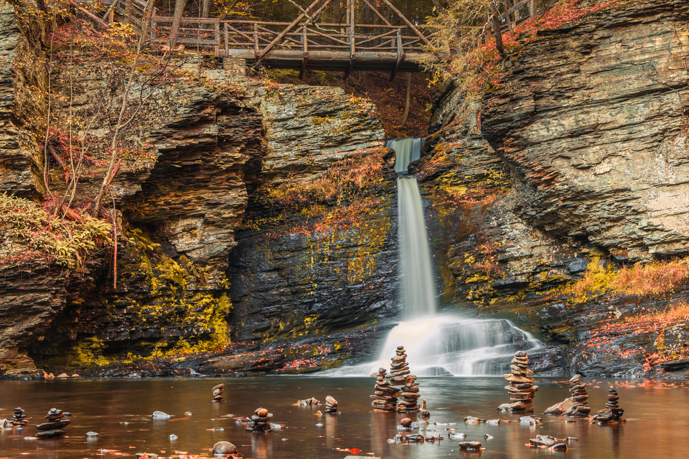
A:
[[[256,98],[266,125],[265,185],[249,200],[247,229],[229,257],[236,339],[299,340],[393,316],[396,175],[388,164],[364,196],[317,191],[315,202],[294,206],[267,196],[310,190],[329,168],[380,155],[375,107],[338,88],[260,88]],[[382,155],[389,162],[393,153]]]

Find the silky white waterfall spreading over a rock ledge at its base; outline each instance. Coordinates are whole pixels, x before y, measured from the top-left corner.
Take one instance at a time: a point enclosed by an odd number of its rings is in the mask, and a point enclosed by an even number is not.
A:
[[[436,314],[433,266],[421,193],[415,177],[406,177],[409,162],[420,158],[422,138],[393,139],[398,178],[398,246],[402,269],[401,297],[406,321],[390,330],[378,361],[329,370],[327,376],[369,376],[389,367],[398,345],[418,376],[478,376],[509,372],[517,350],[542,343],[505,319],[470,319]]]

